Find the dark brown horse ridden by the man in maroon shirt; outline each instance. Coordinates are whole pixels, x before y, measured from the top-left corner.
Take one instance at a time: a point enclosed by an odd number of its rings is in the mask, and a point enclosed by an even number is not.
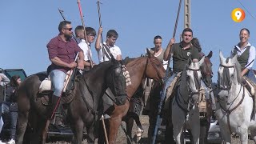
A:
[[[26,78],[18,88],[18,126],[17,143],[22,144],[26,126],[32,127],[31,143],[45,143],[46,131],[49,126],[52,106],[44,106],[38,98],[38,87],[46,78],[42,74],[34,74]],[[82,131],[86,127],[90,138],[94,142],[95,123],[98,120],[98,107],[101,107],[102,95],[106,88],[116,95],[116,103],[126,102],[126,79],[120,62],[112,59],[102,62],[98,66],[82,74],[74,83],[71,101],[65,107],[70,127],[74,133],[73,143],[82,143]]]

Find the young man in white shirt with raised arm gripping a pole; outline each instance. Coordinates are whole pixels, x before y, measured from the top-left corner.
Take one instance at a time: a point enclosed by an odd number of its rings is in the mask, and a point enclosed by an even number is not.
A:
[[[109,61],[111,54],[116,60],[122,60],[122,53],[118,46],[115,46],[115,42],[118,39],[118,33],[115,30],[109,30],[106,33],[106,42],[101,43],[102,39],[102,27],[98,29],[98,37],[96,39],[95,49],[98,52],[98,61]],[[103,49],[103,50],[102,50]]]

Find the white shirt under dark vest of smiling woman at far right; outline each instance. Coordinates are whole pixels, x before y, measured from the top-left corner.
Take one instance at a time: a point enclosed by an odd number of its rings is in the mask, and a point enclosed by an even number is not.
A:
[[[249,42],[246,45],[245,49],[243,49],[243,50],[241,50],[241,48],[238,45],[234,47],[234,48],[238,49],[237,54],[238,54],[238,56],[240,56],[243,52],[246,51],[247,47],[249,47],[249,46],[250,46],[249,58],[248,58],[246,66],[245,66],[247,69],[251,69],[254,66],[254,62],[252,62],[252,61],[255,59],[255,47],[252,46]]]

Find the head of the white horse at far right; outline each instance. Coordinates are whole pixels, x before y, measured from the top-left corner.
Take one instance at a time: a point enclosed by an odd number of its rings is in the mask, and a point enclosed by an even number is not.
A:
[[[241,83],[241,66],[237,57],[238,55],[224,58],[222,51],[219,52],[218,87],[220,90],[230,90],[232,84]]]

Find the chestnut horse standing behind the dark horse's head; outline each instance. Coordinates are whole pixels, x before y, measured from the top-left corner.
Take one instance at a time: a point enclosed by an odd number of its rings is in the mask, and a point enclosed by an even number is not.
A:
[[[134,92],[140,86],[143,78],[152,78],[155,81],[161,82],[162,78],[165,76],[165,70],[162,66],[162,62],[158,58],[154,57],[154,54],[151,54],[147,50],[148,56],[134,58],[127,63],[126,68],[130,73],[131,85],[126,86],[126,92],[128,99],[134,95]],[[108,110],[110,118],[106,120],[106,129],[108,131],[109,143],[115,143],[117,138],[118,128],[121,125],[122,118],[124,118],[129,110],[130,102],[126,101],[125,105],[114,106],[114,110]],[[99,143],[103,143],[102,137],[99,138]]]

